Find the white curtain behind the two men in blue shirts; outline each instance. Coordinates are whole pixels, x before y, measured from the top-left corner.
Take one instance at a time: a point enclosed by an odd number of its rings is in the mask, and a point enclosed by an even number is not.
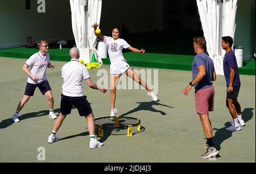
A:
[[[217,74],[223,72],[221,37],[231,36],[234,39],[236,29],[237,0],[196,0],[200,20],[207,41],[207,52],[214,62]]]

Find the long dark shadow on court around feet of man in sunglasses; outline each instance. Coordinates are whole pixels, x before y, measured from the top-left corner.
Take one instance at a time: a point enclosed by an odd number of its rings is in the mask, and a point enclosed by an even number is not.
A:
[[[73,108],[75,108],[75,107],[73,107]],[[54,113],[60,113],[60,109],[55,109],[53,111],[54,111]],[[23,114],[23,115],[19,116],[19,120],[20,120],[20,122],[22,122],[24,119],[33,118],[33,117],[42,117],[42,116],[46,116],[46,115],[47,116],[49,115],[49,110],[41,110],[41,111],[34,112],[34,113]],[[13,125],[13,123],[14,122],[11,120],[11,115],[10,115],[10,118],[4,119],[0,123],[0,129],[9,127],[9,126]]]

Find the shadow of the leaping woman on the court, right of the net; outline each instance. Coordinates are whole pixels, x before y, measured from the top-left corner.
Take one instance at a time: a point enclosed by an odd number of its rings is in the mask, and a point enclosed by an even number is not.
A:
[[[138,107],[134,108],[133,110],[128,111],[127,113],[124,113],[124,114],[120,115],[119,117],[123,117],[125,115],[129,115],[129,114],[135,113],[135,112],[140,111],[140,110],[148,110],[148,111],[152,111],[152,112],[155,112],[155,113],[160,113],[161,115],[166,115],[166,113],[164,111],[156,110],[154,107],[152,107],[154,105],[174,108],[172,106],[163,105],[163,104],[159,103],[159,100],[158,101],[150,101],[150,102],[136,102],[136,103],[139,103]]]

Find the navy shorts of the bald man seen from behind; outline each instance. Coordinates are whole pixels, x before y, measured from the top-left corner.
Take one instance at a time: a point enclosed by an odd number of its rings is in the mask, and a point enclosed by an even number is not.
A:
[[[75,106],[79,110],[80,116],[86,116],[92,114],[92,108],[89,102],[86,100],[86,96],[82,97],[69,97],[61,94],[60,112],[61,114],[68,115],[71,113],[72,106]]]

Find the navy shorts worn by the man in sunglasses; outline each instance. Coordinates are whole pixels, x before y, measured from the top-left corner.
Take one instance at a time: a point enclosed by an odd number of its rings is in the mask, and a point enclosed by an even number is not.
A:
[[[48,90],[52,90],[51,86],[49,86],[49,82],[43,81],[40,84],[30,84],[27,82],[26,89],[24,95],[34,96],[36,87],[39,88],[40,92],[44,95]]]

